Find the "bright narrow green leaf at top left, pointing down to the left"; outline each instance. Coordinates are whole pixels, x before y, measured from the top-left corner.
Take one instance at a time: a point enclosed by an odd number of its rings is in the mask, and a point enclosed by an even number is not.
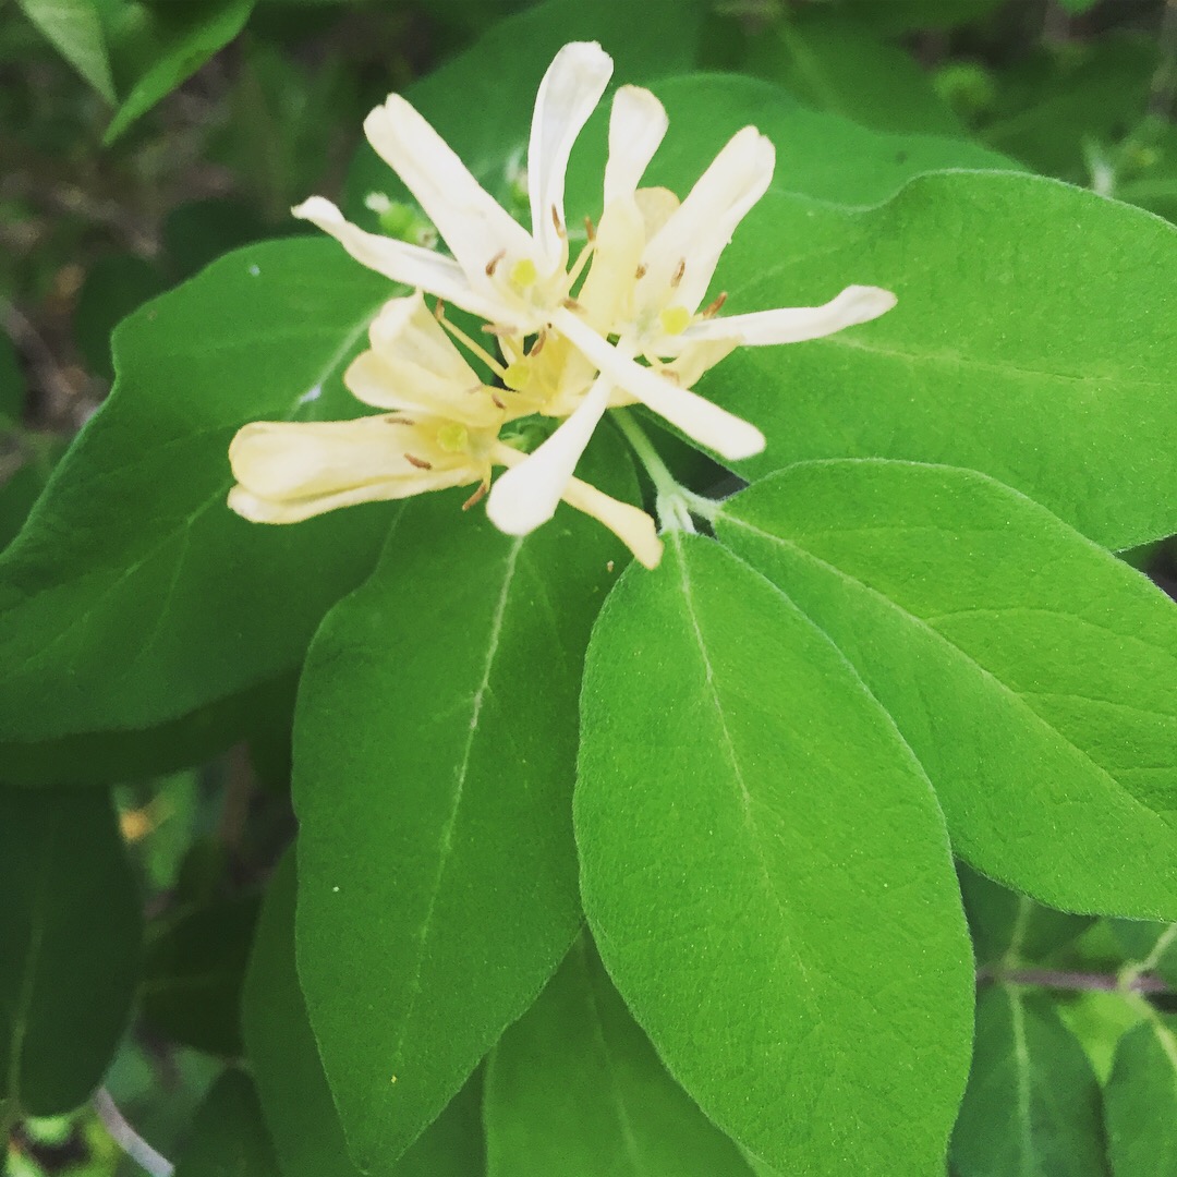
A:
[[[111,40],[122,102],[102,142],[109,146],[161,98],[192,77],[245,28],[254,0],[124,2],[111,8]]]

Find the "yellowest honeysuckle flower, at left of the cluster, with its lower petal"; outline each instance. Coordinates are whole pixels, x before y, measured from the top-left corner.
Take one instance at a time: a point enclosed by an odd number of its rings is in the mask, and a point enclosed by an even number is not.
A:
[[[477,484],[468,507],[486,493],[494,466],[526,460],[500,430],[533,413],[534,400],[481,384],[420,293],[387,302],[368,335],[372,346],[352,361],[344,383],[385,412],[244,426],[230,446],[237,485],[228,505],[238,514],[300,523],[359,503]],[[561,497],[613,531],[647,567],[658,563],[661,541],[644,511],[579,479],[570,479]]]

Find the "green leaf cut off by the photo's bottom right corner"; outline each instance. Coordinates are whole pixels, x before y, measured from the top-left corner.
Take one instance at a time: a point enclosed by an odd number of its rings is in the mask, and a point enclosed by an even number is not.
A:
[[[1104,1092],[1115,1177],[1177,1177],[1177,1019],[1129,1030]]]

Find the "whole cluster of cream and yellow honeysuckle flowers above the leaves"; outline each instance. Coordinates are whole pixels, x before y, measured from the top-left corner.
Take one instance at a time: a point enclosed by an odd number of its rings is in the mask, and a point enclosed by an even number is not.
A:
[[[601,213],[596,225],[586,222],[573,257],[565,172],[611,74],[600,46],[577,42],[544,75],[527,149],[531,232],[403,98],[391,95],[368,115],[370,142],[452,257],[366,233],[321,197],[294,210],[415,293],[384,307],[371,350],[344,377],[379,414],[245,426],[230,448],[234,511],[295,523],[355,503],[474,486],[466,505],[488,491],[487,514],[505,532],[528,533],[563,500],[652,567],[661,553],[653,520],[573,477],[605,411],[640,403],[723,458],[750,457],[764,448],[763,434],[691,391],[703,372],[740,345],[816,339],[895,305],[892,294],[870,286],[847,287],[818,307],[722,317],[723,294],[704,305],[723,250],[771,182],[773,147],[745,127],[681,201],[665,188],[643,188],[667,120],[658,99],[634,86],[613,98]],[[437,299],[432,310],[424,294]],[[451,324],[446,302],[484,319],[498,354]],[[497,383],[484,383],[467,357]],[[511,423],[534,414],[560,424],[524,453],[510,444]],[[506,473],[492,485],[496,466]]]

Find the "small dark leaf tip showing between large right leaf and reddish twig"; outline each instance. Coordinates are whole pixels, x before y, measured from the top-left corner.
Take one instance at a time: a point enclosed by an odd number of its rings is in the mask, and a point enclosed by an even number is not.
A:
[[[1095,918],[1035,903],[970,870],[957,867],[978,965],[1032,964],[1082,936]]]

